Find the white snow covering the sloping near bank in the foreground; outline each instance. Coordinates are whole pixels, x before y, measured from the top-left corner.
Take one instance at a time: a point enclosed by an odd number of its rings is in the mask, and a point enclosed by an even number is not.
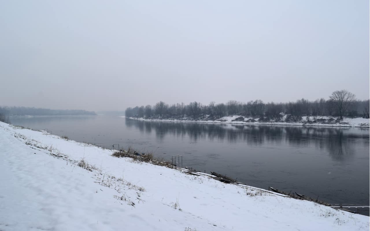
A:
[[[0,122],[0,140],[1,231],[369,230],[363,215],[112,157],[47,132]]]

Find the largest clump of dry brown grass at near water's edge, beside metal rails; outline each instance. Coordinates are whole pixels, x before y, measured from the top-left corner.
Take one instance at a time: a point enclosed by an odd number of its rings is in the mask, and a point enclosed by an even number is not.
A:
[[[168,161],[165,161],[163,158],[156,158],[154,157],[153,153],[145,153],[139,154],[138,152],[134,151],[131,147],[126,150],[117,151],[112,154],[115,157],[130,157],[138,162],[146,162],[151,163],[159,166],[166,166],[171,168],[172,164]]]

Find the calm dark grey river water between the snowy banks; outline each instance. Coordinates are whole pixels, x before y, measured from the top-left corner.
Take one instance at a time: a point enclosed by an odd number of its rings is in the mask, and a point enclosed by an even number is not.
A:
[[[331,203],[369,205],[369,129],[147,122],[120,117],[10,118],[80,142],[154,152],[183,166],[216,171]],[[368,212],[367,212],[368,213]]]

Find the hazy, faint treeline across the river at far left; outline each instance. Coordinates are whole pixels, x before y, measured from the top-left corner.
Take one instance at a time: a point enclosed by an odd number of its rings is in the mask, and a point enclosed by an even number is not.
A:
[[[85,110],[52,110],[46,108],[26,108],[26,107],[0,107],[0,115],[3,116],[66,116],[66,115],[96,115],[95,112]]]

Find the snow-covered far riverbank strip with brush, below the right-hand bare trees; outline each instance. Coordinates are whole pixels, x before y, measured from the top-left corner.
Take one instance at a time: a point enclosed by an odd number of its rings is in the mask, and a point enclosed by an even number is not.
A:
[[[124,116],[121,116],[124,117]],[[345,117],[343,120],[339,120],[332,116],[304,116],[299,122],[283,122],[286,120],[287,115],[282,115],[280,121],[260,121],[259,118],[243,117],[239,115],[224,116],[216,120],[193,120],[191,118],[182,119],[144,119],[144,118],[132,118],[137,120],[146,121],[167,121],[167,122],[197,122],[197,123],[235,123],[235,124],[255,124],[255,125],[298,125],[298,126],[327,126],[327,127],[357,127],[357,128],[370,128],[370,119],[366,118],[349,118]]]

